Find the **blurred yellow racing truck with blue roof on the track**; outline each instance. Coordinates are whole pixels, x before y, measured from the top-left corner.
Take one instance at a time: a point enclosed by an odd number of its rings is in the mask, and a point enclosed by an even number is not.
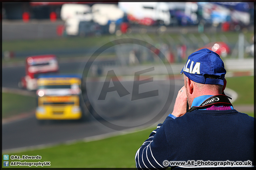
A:
[[[36,118],[45,120],[84,120],[85,104],[81,97],[81,76],[41,75],[37,80]],[[87,114],[86,114],[87,113]]]

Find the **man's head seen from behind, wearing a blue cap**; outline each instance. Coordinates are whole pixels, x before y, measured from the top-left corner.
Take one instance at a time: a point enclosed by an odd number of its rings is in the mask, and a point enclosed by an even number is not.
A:
[[[219,55],[211,50],[202,49],[188,56],[182,73],[189,107],[195,97],[222,94],[225,89],[224,63]]]

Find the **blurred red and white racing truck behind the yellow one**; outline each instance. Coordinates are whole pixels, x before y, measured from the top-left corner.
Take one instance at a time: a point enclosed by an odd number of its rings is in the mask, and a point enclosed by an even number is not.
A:
[[[26,76],[21,78],[18,86],[27,90],[37,89],[37,77],[44,73],[57,73],[59,65],[55,55],[29,56],[26,58]]]

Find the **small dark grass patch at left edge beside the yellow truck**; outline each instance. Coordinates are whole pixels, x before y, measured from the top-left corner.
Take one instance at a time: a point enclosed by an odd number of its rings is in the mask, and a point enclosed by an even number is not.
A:
[[[2,93],[2,118],[8,118],[36,108],[36,97]]]

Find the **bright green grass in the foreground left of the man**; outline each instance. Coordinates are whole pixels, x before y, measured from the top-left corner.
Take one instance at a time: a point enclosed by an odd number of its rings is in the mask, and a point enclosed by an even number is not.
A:
[[[41,160],[14,161],[50,161],[51,166],[49,168],[135,168],[135,153],[154,129],[150,128],[99,141],[78,142],[72,145],[62,144],[40,150],[12,153],[9,154],[9,157],[11,155],[39,155],[42,156]],[[11,161],[9,160],[9,164]],[[33,167],[35,166],[31,166],[31,168]]]

